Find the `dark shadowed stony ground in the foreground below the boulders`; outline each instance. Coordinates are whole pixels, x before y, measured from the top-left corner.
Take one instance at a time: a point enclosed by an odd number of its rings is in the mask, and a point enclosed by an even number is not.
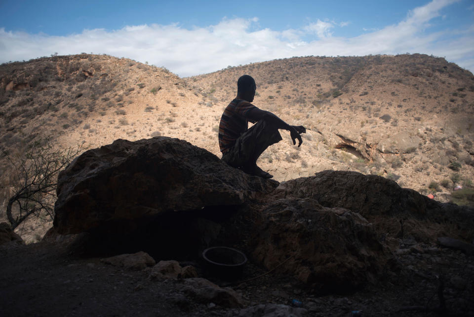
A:
[[[399,242],[398,270],[356,292],[320,294],[270,272],[231,285],[241,307],[190,293],[186,279],[151,279],[150,268],[136,271],[75,256],[66,242],[11,242],[0,246],[1,316],[474,316],[473,255]],[[250,261],[241,280],[266,272]],[[292,299],[302,302],[301,309],[291,306]]]

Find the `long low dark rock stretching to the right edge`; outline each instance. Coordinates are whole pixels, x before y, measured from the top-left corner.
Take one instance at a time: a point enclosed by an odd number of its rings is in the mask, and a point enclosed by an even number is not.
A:
[[[322,171],[315,176],[281,182],[268,201],[313,198],[327,208],[360,213],[384,235],[435,241],[447,235],[471,240],[474,211],[439,203],[395,181],[358,172]]]

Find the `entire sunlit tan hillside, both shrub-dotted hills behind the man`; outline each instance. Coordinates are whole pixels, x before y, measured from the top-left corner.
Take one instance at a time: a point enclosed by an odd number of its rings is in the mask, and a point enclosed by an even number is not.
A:
[[[454,185],[472,184],[473,74],[420,54],[299,57],[185,79],[107,55],[3,64],[2,184],[11,173],[5,153],[21,154],[44,136],[62,147],[97,147],[163,135],[218,155],[219,119],[242,74],[257,82],[255,105],[308,128],[300,148],[282,133],[262,155],[259,165],[277,181],[353,170],[433,191],[441,201],[452,199]]]

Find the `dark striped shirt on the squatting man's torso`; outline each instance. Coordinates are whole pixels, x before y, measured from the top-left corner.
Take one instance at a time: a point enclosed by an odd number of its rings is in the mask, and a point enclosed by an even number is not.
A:
[[[258,108],[242,99],[234,99],[226,107],[219,123],[219,147],[222,153],[234,146],[237,138],[247,131],[249,121],[255,123],[247,117],[252,109]]]

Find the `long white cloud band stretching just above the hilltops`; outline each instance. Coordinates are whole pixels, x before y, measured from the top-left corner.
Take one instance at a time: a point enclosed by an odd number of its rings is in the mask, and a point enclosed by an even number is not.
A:
[[[306,55],[367,55],[426,53],[474,71],[474,23],[465,30],[429,33],[429,23],[453,3],[434,0],[408,12],[396,25],[368,30],[352,38],[333,37],[346,26],[317,20],[302,29],[273,31],[260,28],[258,19],[227,19],[205,28],[179,24],[126,26],[119,30],[84,30],[80,34],[49,36],[0,28],[0,62],[39,56],[106,53],[165,66],[180,76],[208,73],[228,65],[247,64]],[[309,40],[313,39],[313,40]]]

